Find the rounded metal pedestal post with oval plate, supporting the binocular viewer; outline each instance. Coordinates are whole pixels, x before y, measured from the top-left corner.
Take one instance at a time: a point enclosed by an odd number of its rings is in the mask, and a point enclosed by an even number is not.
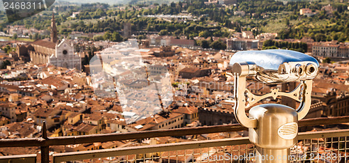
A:
[[[258,120],[257,127],[248,129],[248,137],[256,146],[256,162],[290,162],[290,148],[297,143],[298,133],[295,109],[261,104],[250,109],[249,114]]]

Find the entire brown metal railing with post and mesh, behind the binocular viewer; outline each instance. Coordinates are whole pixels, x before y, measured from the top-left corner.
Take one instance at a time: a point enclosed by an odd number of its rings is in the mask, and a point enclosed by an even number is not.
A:
[[[331,125],[348,123],[349,116],[335,118],[313,118],[299,121],[299,126]],[[41,162],[50,162],[49,147],[70,144],[95,143],[105,141],[122,141],[131,139],[147,139],[153,137],[178,137],[195,134],[209,134],[216,132],[237,132],[246,130],[239,124],[216,125],[208,127],[179,128],[172,130],[155,130],[143,132],[95,134],[75,137],[47,137],[45,125],[43,137],[26,139],[1,139],[0,148],[40,146]],[[325,132],[305,132],[299,134],[299,143],[292,148],[293,162],[309,162],[322,160],[338,162],[348,160],[346,153],[349,130],[333,130]],[[52,155],[53,162],[67,162],[73,160],[93,160],[105,162],[207,162],[214,158],[214,162],[253,162],[255,147],[247,137],[215,139],[205,141],[189,141],[184,143],[157,144],[151,146],[133,146],[103,150],[88,150],[73,153],[56,153]],[[330,153],[330,154],[328,154]],[[334,154],[336,153],[336,154]],[[331,155],[332,154],[332,155]],[[251,157],[244,157],[249,155]],[[329,156],[331,155],[331,156]],[[225,159],[230,156],[230,159]],[[242,156],[243,159],[236,159]],[[322,158],[325,156],[325,160]],[[326,160],[329,156],[329,161]],[[334,158],[338,157],[337,160]],[[15,155],[0,157],[0,162],[36,162],[34,155]],[[248,159],[248,160],[246,160]],[[212,160],[211,160],[212,161]]]

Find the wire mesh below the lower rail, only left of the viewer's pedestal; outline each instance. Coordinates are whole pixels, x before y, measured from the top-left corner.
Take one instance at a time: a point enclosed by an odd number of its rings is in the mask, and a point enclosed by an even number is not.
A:
[[[75,162],[253,162],[253,153],[255,153],[253,144],[242,144],[123,155]]]

